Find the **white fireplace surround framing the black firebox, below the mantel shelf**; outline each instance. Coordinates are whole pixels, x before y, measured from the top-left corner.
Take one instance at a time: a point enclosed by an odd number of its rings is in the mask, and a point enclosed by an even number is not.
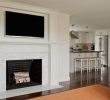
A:
[[[6,91],[6,60],[42,59],[42,85],[49,85],[48,45],[0,45],[0,92]]]

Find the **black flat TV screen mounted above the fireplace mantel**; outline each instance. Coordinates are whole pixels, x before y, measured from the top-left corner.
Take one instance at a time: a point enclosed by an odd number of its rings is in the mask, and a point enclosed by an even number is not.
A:
[[[6,11],[6,35],[44,37],[44,16]]]

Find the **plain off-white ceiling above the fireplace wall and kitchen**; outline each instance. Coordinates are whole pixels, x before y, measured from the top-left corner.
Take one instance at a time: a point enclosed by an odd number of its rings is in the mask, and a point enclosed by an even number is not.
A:
[[[71,24],[110,28],[110,0],[6,0],[56,9],[71,14]]]

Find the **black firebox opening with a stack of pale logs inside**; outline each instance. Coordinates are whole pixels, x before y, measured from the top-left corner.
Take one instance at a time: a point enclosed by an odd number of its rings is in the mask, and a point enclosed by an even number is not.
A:
[[[40,84],[42,84],[42,59],[6,61],[6,90]]]

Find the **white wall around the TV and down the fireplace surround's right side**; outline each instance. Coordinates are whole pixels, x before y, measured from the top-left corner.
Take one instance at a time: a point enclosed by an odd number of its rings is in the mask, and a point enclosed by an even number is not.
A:
[[[58,11],[14,2],[0,2],[4,9],[39,12],[48,16],[46,39],[4,37],[4,14],[0,13],[0,44],[35,44],[49,46],[50,85],[69,80],[69,15]],[[0,8],[1,8],[0,7]]]

